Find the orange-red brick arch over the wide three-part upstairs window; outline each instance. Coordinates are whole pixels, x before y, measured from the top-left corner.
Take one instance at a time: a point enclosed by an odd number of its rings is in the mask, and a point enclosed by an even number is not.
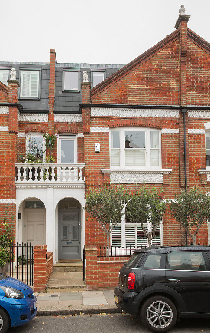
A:
[[[150,119],[119,119],[108,122],[109,128],[123,126],[143,126],[161,129],[163,123]]]

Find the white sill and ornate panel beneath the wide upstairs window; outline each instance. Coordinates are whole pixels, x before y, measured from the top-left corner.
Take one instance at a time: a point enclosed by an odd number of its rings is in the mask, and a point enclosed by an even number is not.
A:
[[[161,170],[110,170],[101,169],[110,174],[110,183],[163,183],[163,174],[172,169]]]

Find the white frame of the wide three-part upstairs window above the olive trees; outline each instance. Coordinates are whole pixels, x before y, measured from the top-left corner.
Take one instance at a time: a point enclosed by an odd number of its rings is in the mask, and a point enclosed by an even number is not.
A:
[[[112,148],[111,146],[111,132],[112,131],[120,131],[120,148]],[[145,131],[145,143],[146,143],[146,166],[125,166],[125,131]],[[151,159],[150,159],[150,150],[155,149],[151,148],[151,135],[152,131],[158,132],[158,139],[159,139],[159,166],[151,166]],[[112,170],[120,170],[120,169],[138,169],[138,170],[146,170],[146,169],[161,169],[161,131],[159,129],[151,129],[148,127],[118,127],[118,128],[110,128],[109,129],[109,161],[110,161],[110,169]],[[111,150],[112,149],[119,149],[120,150],[120,166],[112,166],[111,160]],[[141,148],[139,148],[141,149]]]

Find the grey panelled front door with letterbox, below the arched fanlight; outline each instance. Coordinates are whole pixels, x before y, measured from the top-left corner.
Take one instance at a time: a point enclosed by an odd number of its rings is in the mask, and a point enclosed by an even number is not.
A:
[[[81,259],[80,209],[59,210],[59,259]]]

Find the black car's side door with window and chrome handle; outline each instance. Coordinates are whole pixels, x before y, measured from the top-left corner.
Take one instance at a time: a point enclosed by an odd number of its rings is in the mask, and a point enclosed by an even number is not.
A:
[[[170,287],[183,298],[187,312],[210,313],[210,271],[205,251],[168,253],[166,291]]]

